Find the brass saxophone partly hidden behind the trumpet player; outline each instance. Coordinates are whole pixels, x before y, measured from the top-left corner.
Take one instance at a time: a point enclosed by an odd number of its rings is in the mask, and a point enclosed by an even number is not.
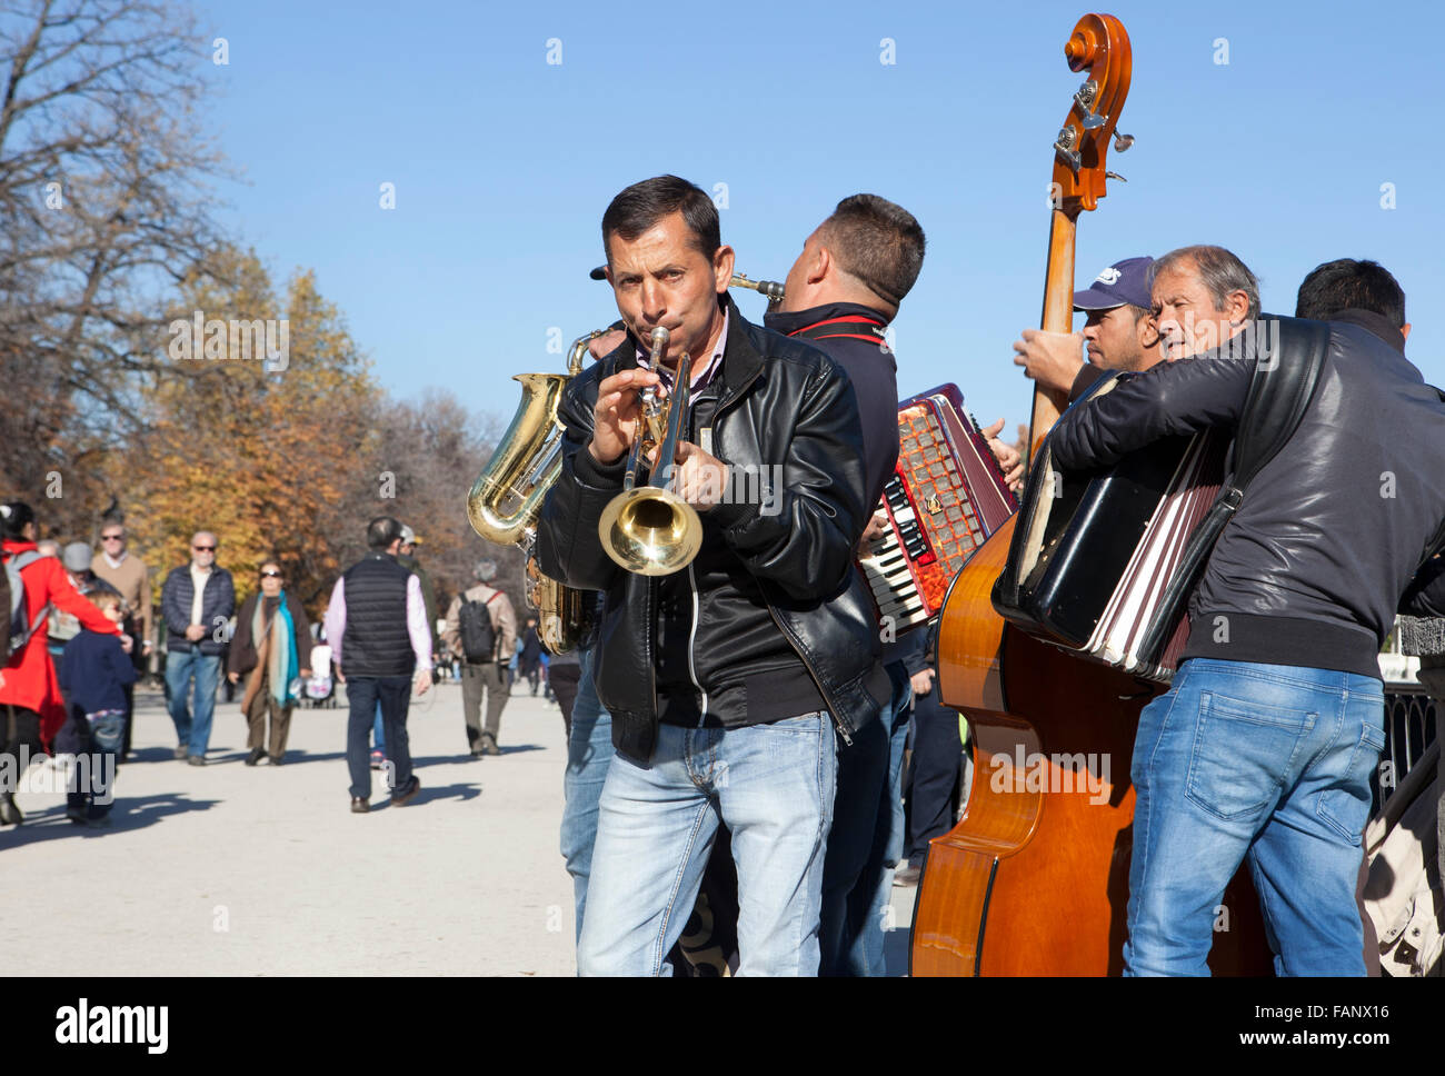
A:
[[[499,546],[520,546],[526,555],[526,599],[538,614],[538,635],[553,654],[575,650],[585,633],[582,592],[538,568],[536,521],[542,500],[562,474],[562,423],[556,407],[566,383],[582,371],[587,345],[605,329],[572,341],[565,374],[517,374],[522,403],[501,435],[487,467],[467,494],[471,529]]]

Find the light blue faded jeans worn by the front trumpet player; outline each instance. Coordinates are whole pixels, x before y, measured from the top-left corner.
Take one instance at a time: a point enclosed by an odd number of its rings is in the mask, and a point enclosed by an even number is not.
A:
[[[650,767],[603,787],[579,975],[670,975],[718,825],[733,833],[738,975],[815,975],[835,752],[827,712],[747,728],[660,725]]]

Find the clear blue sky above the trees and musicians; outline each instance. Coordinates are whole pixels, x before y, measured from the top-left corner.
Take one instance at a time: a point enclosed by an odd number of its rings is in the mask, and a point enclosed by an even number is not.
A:
[[[315,269],[402,396],[445,386],[510,417],[510,376],[561,367],[553,331],[616,318],[587,279],[608,199],[675,172],[727,185],[722,238],[754,279],[780,280],[848,194],[910,209],[929,246],[894,324],[900,394],[955,381],[1012,429],[1029,387],[1010,344],[1038,325],[1051,146],[1081,81],[1062,49],[1085,10],[204,3],[230,53],[205,123],[244,176],[221,185],[236,235],[277,276]],[[1445,381],[1442,9],[1107,10],[1133,40],[1120,129],[1137,142],[1110,155],[1129,182],[1079,221],[1081,286],[1121,257],[1218,243],[1260,276],[1266,311],[1292,313],[1318,263],[1376,259],[1406,290],[1407,354]],[[762,318],[757,295],[738,303]]]

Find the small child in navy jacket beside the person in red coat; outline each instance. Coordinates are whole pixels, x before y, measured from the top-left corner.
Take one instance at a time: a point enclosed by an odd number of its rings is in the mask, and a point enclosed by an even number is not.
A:
[[[88,598],[111,624],[124,620],[114,589],[97,588]],[[55,735],[55,750],[85,758],[71,771],[65,817],[75,825],[110,825],[116,755],[126,738],[124,687],[136,682],[136,666],[118,637],[81,628],[65,644],[59,682],[66,721]]]

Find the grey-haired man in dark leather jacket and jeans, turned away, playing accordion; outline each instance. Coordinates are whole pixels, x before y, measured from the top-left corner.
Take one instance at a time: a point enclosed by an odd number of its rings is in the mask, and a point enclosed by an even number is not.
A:
[[[1267,355],[1254,274],[1221,247],[1153,269],[1175,361],[1069,409],[1051,433],[1064,469],[1240,422]],[[1439,393],[1335,319],[1295,433],[1209,552],[1169,692],[1140,715],[1127,973],[1207,973],[1220,897],[1246,858],[1280,975],[1364,972],[1355,880],[1384,744],[1376,659],[1445,517],[1445,472],[1402,445],[1438,443]]]

